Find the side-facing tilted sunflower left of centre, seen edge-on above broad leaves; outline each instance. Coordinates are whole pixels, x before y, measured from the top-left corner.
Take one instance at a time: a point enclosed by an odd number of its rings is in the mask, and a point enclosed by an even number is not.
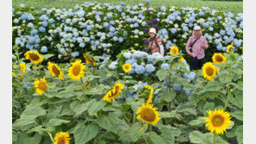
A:
[[[125,89],[125,85],[121,84],[120,82],[116,83],[112,90],[108,91],[105,95],[105,97],[102,98],[102,100],[106,101],[106,102],[115,102],[115,98],[116,97],[120,97],[120,92],[122,92],[122,90]]]

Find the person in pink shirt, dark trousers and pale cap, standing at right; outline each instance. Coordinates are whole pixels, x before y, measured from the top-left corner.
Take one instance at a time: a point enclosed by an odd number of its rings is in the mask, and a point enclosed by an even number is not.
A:
[[[191,56],[190,69],[202,69],[205,63],[204,51],[207,48],[208,41],[202,35],[202,29],[199,26],[195,26],[193,34],[189,37],[189,41],[186,44],[186,52]]]

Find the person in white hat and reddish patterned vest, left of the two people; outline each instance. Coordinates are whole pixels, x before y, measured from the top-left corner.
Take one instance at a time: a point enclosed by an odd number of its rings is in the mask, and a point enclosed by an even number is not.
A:
[[[165,48],[164,48],[164,42],[158,37],[156,28],[150,28],[150,37],[148,38],[149,41],[149,47],[146,49],[147,53],[160,53],[161,55],[164,55]]]

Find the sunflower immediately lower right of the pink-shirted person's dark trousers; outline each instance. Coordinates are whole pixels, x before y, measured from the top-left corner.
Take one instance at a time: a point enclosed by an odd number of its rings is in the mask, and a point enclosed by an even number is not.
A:
[[[203,78],[207,78],[208,80],[212,80],[216,77],[216,73],[220,71],[220,69],[213,65],[211,62],[207,62],[202,66],[202,75]]]

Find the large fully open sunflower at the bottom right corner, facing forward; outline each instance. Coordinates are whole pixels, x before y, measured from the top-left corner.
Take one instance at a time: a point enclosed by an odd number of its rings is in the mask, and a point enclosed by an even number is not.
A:
[[[226,128],[228,128],[231,125],[230,114],[228,112],[224,112],[223,109],[219,110],[209,110],[208,111],[208,117],[204,117],[206,127],[208,127],[208,130],[213,133],[215,131],[215,134],[220,135],[223,134],[223,132],[226,132]]]

